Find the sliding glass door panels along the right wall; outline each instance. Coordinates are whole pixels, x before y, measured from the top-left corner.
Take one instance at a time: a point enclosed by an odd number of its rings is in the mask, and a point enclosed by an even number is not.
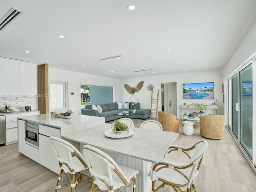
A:
[[[228,127],[252,159],[252,64],[228,80]]]

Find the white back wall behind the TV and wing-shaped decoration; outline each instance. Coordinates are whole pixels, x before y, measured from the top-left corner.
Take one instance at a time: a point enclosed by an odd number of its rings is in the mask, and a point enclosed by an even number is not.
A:
[[[140,77],[140,78],[125,78],[120,79],[120,101],[129,101],[133,102],[134,99],[138,98],[140,102],[140,107],[142,109],[150,109],[150,102],[151,102],[151,92],[147,90],[148,84],[154,84],[155,89],[154,91],[159,92],[161,94],[161,83],[167,82],[176,82],[177,83],[177,115],[179,114],[179,105],[183,104],[192,104],[194,103],[201,103],[206,102],[206,104],[210,105],[216,99],[218,99],[218,105],[220,106],[220,114],[222,113],[223,103],[222,103],[222,72],[221,71],[213,71],[213,72],[198,72],[198,73],[184,73],[184,74],[170,74],[170,75],[161,75],[161,76],[148,76],[148,77]],[[135,93],[136,98],[130,98],[132,95],[129,94],[125,88],[124,84],[128,84],[129,86],[136,87],[137,84],[144,80],[144,85],[142,89]],[[202,82],[214,82],[214,99],[213,100],[188,100],[183,99],[182,96],[182,84],[184,83],[202,83]],[[118,100],[116,100],[118,101]],[[159,95],[158,101],[158,111],[161,110],[161,96]],[[182,110],[184,114],[185,110]],[[196,109],[195,109],[196,111]],[[208,110],[209,114],[214,114],[214,110]]]

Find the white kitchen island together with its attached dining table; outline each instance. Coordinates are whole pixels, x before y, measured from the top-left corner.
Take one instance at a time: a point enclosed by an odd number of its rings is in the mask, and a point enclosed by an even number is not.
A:
[[[39,146],[25,142],[25,122],[38,124]],[[137,191],[150,192],[148,176],[152,163],[157,163],[178,136],[178,133],[130,128],[132,136],[109,138],[104,132],[111,129],[102,117],[72,115],[70,119],[51,117],[50,114],[18,118],[18,150],[46,168],[59,174],[60,167],[50,146],[50,136],[63,138],[74,144],[80,152],[84,144],[99,148],[110,155],[118,164],[134,168],[137,176]],[[132,191],[132,188],[123,188]]]

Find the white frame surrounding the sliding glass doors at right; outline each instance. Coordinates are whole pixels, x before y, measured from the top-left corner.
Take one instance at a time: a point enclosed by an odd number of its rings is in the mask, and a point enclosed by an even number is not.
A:
[[[224,79],[224,84],[226,89],[224,90],[224,96],[225,96],[225,103],[224,103],[224,114],[226,115],[226,124],[228,126],[228,130],[231,133],[232,137],[238,144],[240,150],[244,154],[245,158],[253,168],[254,172],[256,173],[256,118],[252,119],[252,158],[245,152],[243,146],[240,144],[240,122],[239,122],[239,131],[238,131],[238,139],[236,136],[234,136],[234,133],[232,132],[232,124],[230,125],[230,118],[232,118],[232,110],[230,110],[230,107],[232,108],[232,105],[230,106],[230,99],[232,97],[230,94],[232,94],[232,88],[230,89],[230,82],[229,80],[234,76],[235,74],[239,74],[241,70],[246,68],[248,65],[252,64],[252,109],[256,109],[256,52],[250,56],[245,62],[243,62],[236,70],[232,72],[226,79]],[[238,75],[238,81],[240,82],[240,76]],[[254,86],[253,86],[254,85]],[[240,92],[238,94],[239,103],[240,103]],[[232,104],[232,101],[231,101]],[[230,114],[231,112],[231,114]],[[256,110],[252,111],[252,117],[256,116]],[[239,114],[240,119],[240,114]],[[240,120],[239,120],[240,121]],[[232,122],[232,120],[231,120]]]

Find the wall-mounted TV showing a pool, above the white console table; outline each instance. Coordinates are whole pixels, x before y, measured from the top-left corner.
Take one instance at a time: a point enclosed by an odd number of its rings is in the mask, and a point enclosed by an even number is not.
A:
[[[183,99],[214,99],[213,83],[183,84]]]

